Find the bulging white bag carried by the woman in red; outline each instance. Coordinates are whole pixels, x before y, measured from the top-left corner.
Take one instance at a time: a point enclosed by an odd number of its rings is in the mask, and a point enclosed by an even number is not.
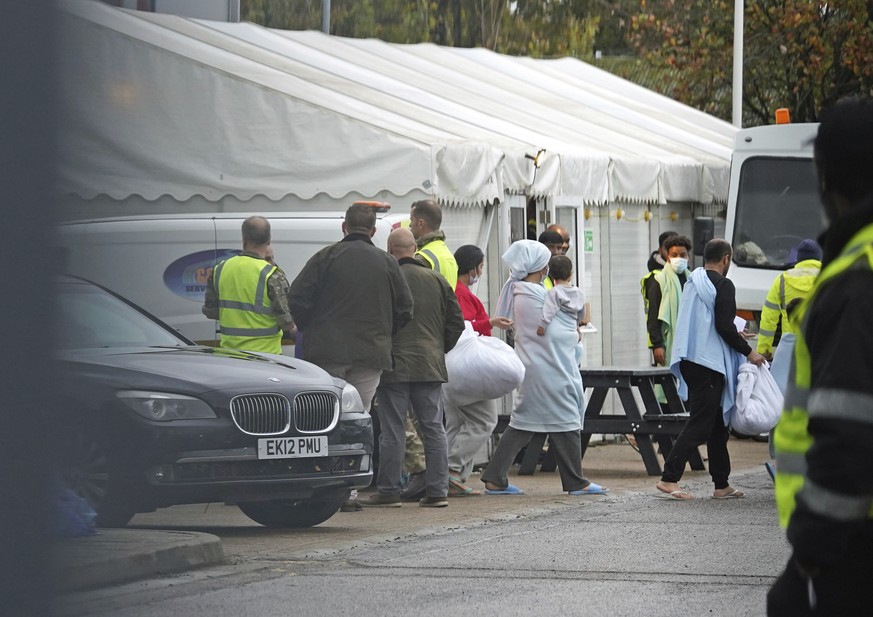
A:
[[[521,385],[524,364],[515,350],[493,336],[479,336],[469,321],[446,354],[446,394],[458,405],[499,398]]]

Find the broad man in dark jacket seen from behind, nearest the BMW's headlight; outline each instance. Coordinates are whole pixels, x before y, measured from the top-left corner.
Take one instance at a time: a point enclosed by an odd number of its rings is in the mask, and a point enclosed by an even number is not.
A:
[[[340,242],[303,266],[289,304],[303,332],[303,359],[352,384],[369,411],[382,372],[392,368],[392,336],[412,319],[412,295],[397,261],[370,239],[372,208],[351,206],[342,230]]]

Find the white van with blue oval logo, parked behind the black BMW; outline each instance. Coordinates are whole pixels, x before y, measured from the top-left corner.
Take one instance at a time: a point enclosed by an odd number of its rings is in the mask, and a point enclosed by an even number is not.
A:
[[[373,242],[386,248],[408,213],[377,209]],[[342,240],[344,212],[267,215],[276,263],[293,281],[319,249]],[[185,337],[216,344],[217,322],[200,312],[216,263],[242,251],[243,220],[251,213],[128,216],[62,223],[58,243],[64,273],[81,276],[132,300]],[[293,355],[286,348],[285,353]]]

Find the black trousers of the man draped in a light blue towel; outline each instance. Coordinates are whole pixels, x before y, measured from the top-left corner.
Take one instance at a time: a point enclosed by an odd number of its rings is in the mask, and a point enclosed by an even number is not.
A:
[[[721,411],[724,375],[688,360],[682,360],[679,369],[688,384],[690,417],[664,461],[661,480],[681,480],[694,449],[706,443],[712,482],[716,489],[727,488],[728,477],[731,475],[731,458],[727,450],[730,431],[724,425]]]

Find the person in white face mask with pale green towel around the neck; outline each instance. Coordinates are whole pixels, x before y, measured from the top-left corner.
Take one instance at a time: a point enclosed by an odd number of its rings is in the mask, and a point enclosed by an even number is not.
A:
[[[685,281],[688,280],[691,240],[687,236],[672,236],[664,241],[664,251],[667,263],[655,275],[658,284],[649,289],[649,312],[646,316],[646,329],[652,343],[655,366],[670,365],[679,298],[682,296]]]

